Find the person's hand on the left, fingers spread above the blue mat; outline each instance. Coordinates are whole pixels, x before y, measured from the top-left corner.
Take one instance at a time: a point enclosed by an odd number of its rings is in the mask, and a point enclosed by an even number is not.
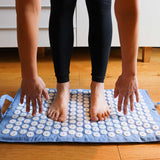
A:
[[[45,83],[40,77],[34,79],[22,79],[21,82],[21,96],[20,103],[23,103],[24,96],[26,95],[26,112],[30,111],[30,102],[32,102],[32,116],[35,116],[38,102],[39,113],[42,113],[43,101],[42,95],[45,99],[49,99],[49,95],[45,86]],[[37,102],[36,102],[37,100]]]

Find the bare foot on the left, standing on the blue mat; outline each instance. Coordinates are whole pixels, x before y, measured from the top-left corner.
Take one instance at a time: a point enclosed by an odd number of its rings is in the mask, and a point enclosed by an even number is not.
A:
[[[49,118],[54,121],[64,122],[68,114],[68,102],[70,98],[69,82],[57,83],[57,93],[54,101],[47,111]]]

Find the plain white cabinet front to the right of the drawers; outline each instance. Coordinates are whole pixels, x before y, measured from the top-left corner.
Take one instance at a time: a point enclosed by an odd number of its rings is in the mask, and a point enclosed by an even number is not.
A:
[[[112,46],[119,46],[117,22],[114,15],[114,1],[112,1]],[[160,47],[160,0],[139,0],[139,2],[139,45],[143,47]],[[77,3],[77,45],[88,46],[88,13],[85,0],[78,0]]]

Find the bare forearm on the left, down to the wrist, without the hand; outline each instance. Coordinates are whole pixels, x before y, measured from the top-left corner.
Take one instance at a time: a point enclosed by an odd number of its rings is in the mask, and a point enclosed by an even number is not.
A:
[[[16,0],[17,41],[22,78],[37,76],[39,0]]]

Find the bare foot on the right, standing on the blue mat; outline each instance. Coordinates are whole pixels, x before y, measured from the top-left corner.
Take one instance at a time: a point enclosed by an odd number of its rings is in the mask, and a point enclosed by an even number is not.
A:
[[[104,83],[92,81],[91,85],[91,121],[103,121],[110,116],[109,107],[105,100]]]

